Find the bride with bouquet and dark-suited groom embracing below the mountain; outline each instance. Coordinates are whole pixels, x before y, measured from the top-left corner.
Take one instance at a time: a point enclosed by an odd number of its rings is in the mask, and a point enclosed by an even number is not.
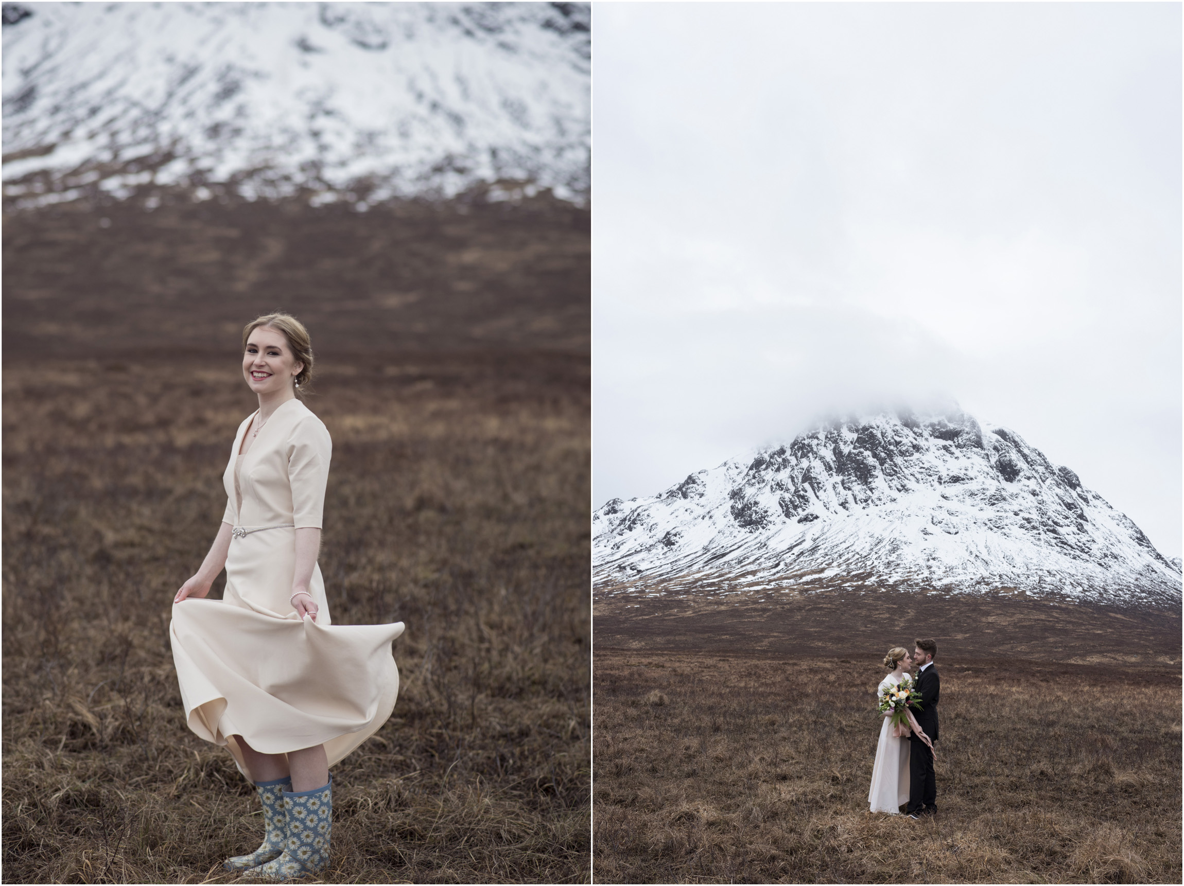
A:
[[[900,717],[894,725],[892,710],[884,713],[876,745],[876,762],[871,768],[871,790],[868,801],[871,811],[895,815],[908,803],[910,819],[937,813],[938,783],[933,771],[933,743],[938,741],[938,697],[941,681],[933,659],[938,645],[933,640],[916,640],[912,655],[908,649],[894,647],[884,657],[889,673],[880,684],[880,710],[903,705],[907,725]],[[915,675],[909,671],[915,668]],[[920,696],[920,698],[918,698]]]

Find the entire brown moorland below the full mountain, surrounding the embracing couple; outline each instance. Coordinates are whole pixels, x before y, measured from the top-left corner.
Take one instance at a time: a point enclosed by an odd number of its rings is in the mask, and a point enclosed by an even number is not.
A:
[[[1180,616],[1000,594],[594,604],[597,882],[1179,882]],[[875,687],[939,642],[934,819],[871,815]]]

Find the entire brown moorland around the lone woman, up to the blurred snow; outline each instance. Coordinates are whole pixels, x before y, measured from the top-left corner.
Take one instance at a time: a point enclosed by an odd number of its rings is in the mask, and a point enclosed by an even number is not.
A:
[[[167,629],[277,308],[334,440],[334,622],[407,626],[322,881],[586,881],[587,212],[79,201],[6,215],[4,258],[5,881],[226,882],[258,843]]]

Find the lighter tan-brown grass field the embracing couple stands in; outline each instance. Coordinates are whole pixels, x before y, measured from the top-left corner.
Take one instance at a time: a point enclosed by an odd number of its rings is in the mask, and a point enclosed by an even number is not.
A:
[[[1180,881],[1178,666],[946,659],[915,822],[867,811],[877,657],[597,638],[597,882]]]

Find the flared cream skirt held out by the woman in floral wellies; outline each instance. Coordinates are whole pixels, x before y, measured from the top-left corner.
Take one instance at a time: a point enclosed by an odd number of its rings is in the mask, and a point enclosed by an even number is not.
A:
[[[227,748],[244,775],[233,736],[263,754],[323,744],[333,765],[386,723],[399,694],[391,644],[403,622],[333,625],[320,567],[309,582],[317,620],[292,609],[295,531],[232,537],[223,599],[173,604],[188,726]]]

